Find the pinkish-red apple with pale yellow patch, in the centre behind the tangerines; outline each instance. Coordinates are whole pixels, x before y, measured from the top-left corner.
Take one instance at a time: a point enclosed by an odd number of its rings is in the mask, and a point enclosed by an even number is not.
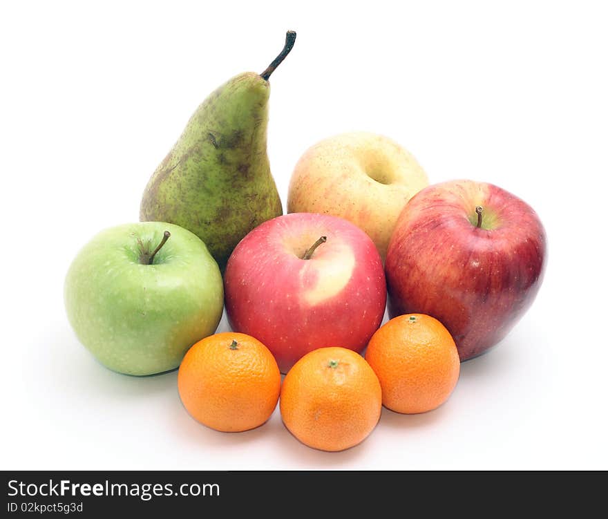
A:
[[[307,352],[361,352],[386,305],[380,255],[343,218],[296,213],[251,231],[229,258],[226,310],[236,332],[262,341],[287,372]]]

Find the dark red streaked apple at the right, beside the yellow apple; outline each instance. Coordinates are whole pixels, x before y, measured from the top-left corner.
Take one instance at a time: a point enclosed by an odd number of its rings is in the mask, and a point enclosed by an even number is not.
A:
[[[429,314],[450,330],[461,360],[476,357],[534,301],[546,247],[535,211],[508,191],[471,180],[426,187],[388,246],[390,317]]]

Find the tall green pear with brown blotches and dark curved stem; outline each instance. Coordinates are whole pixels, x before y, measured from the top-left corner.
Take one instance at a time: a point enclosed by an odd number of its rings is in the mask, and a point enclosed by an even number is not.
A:
[[[205,242],[222,271],[236,244],[283,207],[266,152],[268,79],[296,41],[261,74],[246,72],[211,93],[153,173],[140,220],[185,227]]]

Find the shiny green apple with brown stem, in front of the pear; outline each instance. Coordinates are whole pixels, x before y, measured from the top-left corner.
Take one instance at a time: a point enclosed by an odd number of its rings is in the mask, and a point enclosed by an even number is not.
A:
[[[99,362],[129,375],[173,370],[213,334],[224,290],[218,264],[195,234],[144,222],[100,232],[73,261],[68,319]]]

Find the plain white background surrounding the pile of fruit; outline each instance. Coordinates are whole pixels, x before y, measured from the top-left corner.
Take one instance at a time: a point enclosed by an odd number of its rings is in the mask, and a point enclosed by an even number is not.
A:
[[[607,469],[608,17],[602,2],[61,1],[0,8],[2,469]],[[458,4],[458,5],[456,5]],[[146,182],[206,95],[271,79],[269,158],[384,133],[432,182],[486,180],[540,214],[533,308],[462,366],[448,403],[383,410],[363,444],[298,443],[278,409],[225,434],[187,415],[176,372],[126,377],[79,345],[64,275]],[[220,330],[226,330],[222,321]]]

